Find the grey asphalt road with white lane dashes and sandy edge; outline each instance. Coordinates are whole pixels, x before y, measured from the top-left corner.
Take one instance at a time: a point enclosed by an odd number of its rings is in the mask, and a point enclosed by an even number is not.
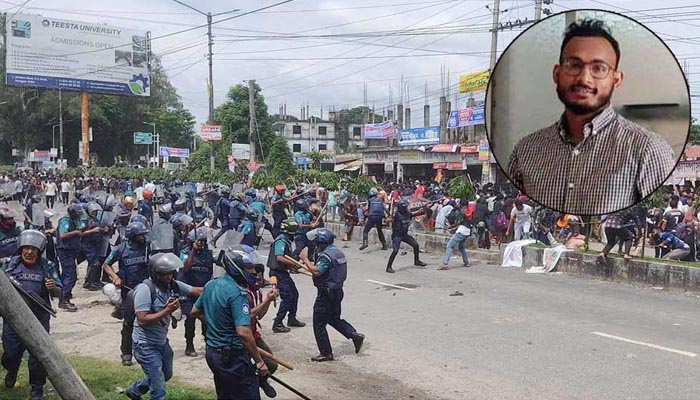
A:
[[[410,254],[399,256],[397,272],[387,274],[388,251],[338,245],[349,262],[343,316],[366,335],[362,352],[354,354],[331,328],[337,360],[309,361],[318,352],[311,328],[315,289],[304,275],[293,277],[298,318],[307,326],[274,334],[272,315],[263,320],[267,342],[295,366],[279,377],[313,399],[700,397],[696,296],[479,262],[437,271],[438,254],[423,255],[425,268],[413,267]],[[269,240],[261,255],[268,246]],[[66,352],[117,360],[120,324],[100,293],[81,289],[83,277],[84,270],[74,301],[80,310],[61,312],[52,335]],[[451,296],[456,291],[463,295]],[[203,357],[182,355],[182,334],[170,334],[175,375],[211,385]],[[196,343],[202,353],[199,334]],[[278,398],[295,398],[278,390]]]

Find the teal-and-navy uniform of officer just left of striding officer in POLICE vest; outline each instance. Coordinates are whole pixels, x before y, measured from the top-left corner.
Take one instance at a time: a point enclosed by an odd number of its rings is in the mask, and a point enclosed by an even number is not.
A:
[[[304,234],[306,237],[306,234]],[[289,267],[277,262],[277,256],[292,255],[292,240],[288,235],[280,234],[275,242],[270,246],[270,255],[267,257],[267,266],[270,268],[270,277],[277,277],[277,289],[280,293],[282,303],[277,309],[275,325],[282,324],[284,318],[289,315],[290,319],[296,319],[297,305],[299,303],[299,291],[294,280],[289,275]]]

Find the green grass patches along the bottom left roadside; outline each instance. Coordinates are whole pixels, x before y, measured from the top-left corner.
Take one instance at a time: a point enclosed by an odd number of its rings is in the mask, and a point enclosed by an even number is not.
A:
[[[84,357],[71,355],[68,357],[73,368],[78,372],[85,384],[90,388],[92,394],[99,400],[125,400],[127,397],[120,393],[120,388],[126,388],[134,381],[143,378],[143,370],[134,362],[133,367],[123,367],[121,363],[109,360],[102,360],[95,357]],[[177,368],[177,365],[175,365]],[[0,368],[5,378],[5,370]],[[209,373],[209,371],[203,371]],[[47,399],[60,400],[60,396],[51,389],[51,383],[47,380],[44,386],[44,393],[50,394]],[[186,384],[177,378],[172,378],[166,384],[168,400],[210,400],[216,398],[213,388],[201,388]],[[29,371],[27,369],[27,356],[25,353],[22,365],[19,368],[17,384],[13,389],[7,389],[0,381],[0,399],[20,400],[29,398]],[[149,396],[143,397],[148,399]]]

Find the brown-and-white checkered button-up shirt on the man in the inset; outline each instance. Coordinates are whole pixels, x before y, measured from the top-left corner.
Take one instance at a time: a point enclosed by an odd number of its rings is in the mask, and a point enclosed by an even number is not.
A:
[[[676,163],[657,134],[608,105],[572,143],[566,118],[530,134],[511,154],[513,184],[549,208],[576,215],[608,214],[640,201],[661,185]]]

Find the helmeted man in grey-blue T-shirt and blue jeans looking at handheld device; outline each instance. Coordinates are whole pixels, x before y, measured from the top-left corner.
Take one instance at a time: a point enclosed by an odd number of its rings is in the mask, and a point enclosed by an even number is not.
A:
[[[165,399],[165,382],[173,376],[173,349],[168,342],[171,314],[180,308],[181,298],[202,294],[201,287],[175,280],[182,266],[175,254],[156,254],[149,260],[149,278],[134,289],[134,356],[146,376],[126,388],[124,394],[130,399],[140,399],[149,391],[152,400]]]

